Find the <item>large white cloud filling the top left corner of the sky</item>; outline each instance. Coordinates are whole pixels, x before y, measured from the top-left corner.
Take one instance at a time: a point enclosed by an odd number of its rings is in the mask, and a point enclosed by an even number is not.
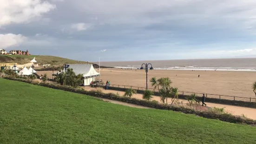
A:
[[[0,26],[30,22],[54,8],[46,0],[0,0]]]

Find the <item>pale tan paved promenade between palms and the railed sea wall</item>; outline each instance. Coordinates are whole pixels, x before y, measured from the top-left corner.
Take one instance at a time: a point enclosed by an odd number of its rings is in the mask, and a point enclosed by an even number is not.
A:
[[[84,87],[84,89],[87,90],[87,91],[95,90],[95,88],[92,88],[92,87]],[[110,92],[112,92],[112,93],[119,93],[120,96],[125,94],[125,92],[114,91],[114,90],[105,90],[105,89],[102,89],[102,92],[104,92],[104,93],[110,93]],[[133,98],[142,99],[142,94],[134,94]],[[157,100],[157,101],[160,102],[160,97],[153,96],[152,100]],[[108,100],[108,101],[110,101],[110,100]],[[179,99],[179,101],[183,102],[183,103],[187,103],[187,101],[184,100],[184,99]],[[168,100],[168,103],[169,102],[171,102],[171,99]],[[225,111],[230,112],[233,115],[241,116],[242,114],[244,114],[247,118],[256,119],[256,109],[253,109],[253,108],[247,108],[247,107],[241,107],[241,106],[233,106],[233,105],[222,105],[222,104],[207,103],[207,101],[205,103],[209,107],[224,108]],[[119,103],[119,105],[125,105],[125,104]],[[130,105],[128,104],[128,106],[130,106]]]

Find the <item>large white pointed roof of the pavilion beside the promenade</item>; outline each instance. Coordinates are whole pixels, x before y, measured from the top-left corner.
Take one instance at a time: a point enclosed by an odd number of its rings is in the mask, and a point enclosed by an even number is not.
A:
[[[70,64],[69,68],[73,69],[75,74],[83,74],[84,77],[98,76],[99,73],[95,71],[92,64]],[[65,69],[63,70],[65,72]]]

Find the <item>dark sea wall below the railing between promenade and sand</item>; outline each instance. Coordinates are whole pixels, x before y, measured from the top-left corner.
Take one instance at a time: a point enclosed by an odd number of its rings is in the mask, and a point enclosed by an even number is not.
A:
[[[110,90],[115,90],[115,91],[122,91],[125,92],[127,88],[120,88],[120,87],[109,87]],[[136,90],[136,89],[135,89]],[[143,94],[143,90],[137,90],[137,93]],[[159,92],[154,92],[155,96],[160,96]],[[186,99],[188,95],[182,95],[179,94],[180,99]],[[197,97],[198,100],[201,100],[201,97]],[[236,106],[243,106],[243,107],[249,107],[249,108],[256,108],[256,103],[255,102],[246,102],[246,101],[240,101],[240,100],[229,100],[229,99],[219,99],[219,98],[206,98],[205,102],[210,102],[210,103],[216,103],[216,104],[224,104],[224,105],[236,105]]]

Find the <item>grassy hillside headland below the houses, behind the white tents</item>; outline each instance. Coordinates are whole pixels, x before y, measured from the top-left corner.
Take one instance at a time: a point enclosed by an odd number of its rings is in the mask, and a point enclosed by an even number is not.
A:
[[[29,63],[34,57],[39,62],[38,64],[51,64],[51,65],[63,65],[64,63],[68,64],[86,64],[87,62],[60,58],[55,56],[41,56],[41,55],[0,55],[0,57],[9,57],[12,58],[10,61],[6,62],[16,62],[18,64]],[[2,60],[1,60],[2,61]],[[3,61],[2,61],[3,62]]]

